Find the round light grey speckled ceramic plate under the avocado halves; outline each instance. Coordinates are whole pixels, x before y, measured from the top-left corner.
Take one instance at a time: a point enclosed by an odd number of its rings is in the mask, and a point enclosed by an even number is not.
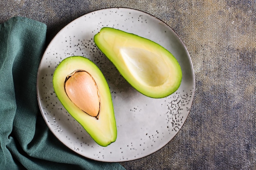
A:
[[[173,53],[182,68],[180,88],[162,99],[146,97],[132,88],[94,44],[93,37],[103,26],[148,38]],[[117,140],[110,146],[96,144],[54,93],[54,70],[64,58],[73,55],[92,60],[110,86],[117,122]],[[43,118],[65,146],[90,159],[121,162],[150,155],[173,139],[192,105],[194,73],[186,47],[167,24],[135,9],[110,8],[77,18],[55,36],[40,63],[37,89]]]

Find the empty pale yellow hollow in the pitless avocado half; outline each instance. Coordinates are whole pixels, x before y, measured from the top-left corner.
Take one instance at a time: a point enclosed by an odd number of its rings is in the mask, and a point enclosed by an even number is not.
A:
[[[123,47],[120,54],[132,75],[146,86],[161,86],[169,77],[168,65],[150,50]],[[139,57],[138,57],[139,56]]]

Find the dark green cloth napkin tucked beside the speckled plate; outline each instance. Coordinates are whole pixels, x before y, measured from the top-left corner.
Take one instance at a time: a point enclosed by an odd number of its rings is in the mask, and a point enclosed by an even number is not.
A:
[[[36,97],[46,25],[23,17],[0,24],[0,169],[124,170],[81,157],[49,131]]]

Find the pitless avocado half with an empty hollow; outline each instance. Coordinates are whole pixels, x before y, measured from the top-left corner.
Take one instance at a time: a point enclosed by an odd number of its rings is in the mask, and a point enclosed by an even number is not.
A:
[[[163,98],[179,88],[182,80],[180,64],[161,45],[109,27],[103,27],[94,35],[94,42],[140,93]]]

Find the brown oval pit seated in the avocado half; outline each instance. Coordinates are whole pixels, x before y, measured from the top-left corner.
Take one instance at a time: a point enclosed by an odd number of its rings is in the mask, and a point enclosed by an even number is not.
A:
[[[100,98],[92,75],[86,71],[76,70],[67,75],[64,86],[67,96],[77,107],[98,119]]]

